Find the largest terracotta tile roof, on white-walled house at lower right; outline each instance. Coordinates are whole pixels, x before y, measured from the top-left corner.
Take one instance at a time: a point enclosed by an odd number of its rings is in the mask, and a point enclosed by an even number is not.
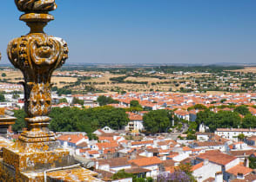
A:
[[[230,163],[232,160],[237,159],[234,156],[227,155],[216,150],[201,153],[197,158],[209,159],[209,161],[223,166],[226,166],[226,164]]]

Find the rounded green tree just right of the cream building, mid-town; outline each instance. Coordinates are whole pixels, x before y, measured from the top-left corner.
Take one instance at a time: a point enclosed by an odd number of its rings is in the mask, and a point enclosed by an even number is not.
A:
[[[171,127],[172,114],[164,109],[150,111],[143,116],[143,120],[146,132],[166,132]]]

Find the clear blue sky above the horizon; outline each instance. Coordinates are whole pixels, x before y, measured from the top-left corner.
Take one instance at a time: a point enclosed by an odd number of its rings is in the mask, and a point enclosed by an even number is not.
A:
[[[256,63],[255,0],[56,0],[45,32],[67,62]],[[0,51],[29,32],[14,0],[1,3]]]

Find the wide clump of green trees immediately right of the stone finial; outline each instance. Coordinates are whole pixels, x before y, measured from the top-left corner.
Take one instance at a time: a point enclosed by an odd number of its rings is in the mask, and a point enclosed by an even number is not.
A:
[[[54,107],[50,117],[50,128],[54,132],[86,132],[91,139],[94,138],[91,133],[100,127],[121,129],[129,121],[125,109],[109,106],[88,109]]]

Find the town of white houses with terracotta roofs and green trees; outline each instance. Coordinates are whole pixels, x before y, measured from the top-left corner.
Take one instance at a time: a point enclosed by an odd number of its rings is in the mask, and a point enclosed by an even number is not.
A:
[[[3,83],[1,89],[0,107],[17,117],[2,139],[3,147],[15,142],[26,127],[21,86]],[[55,90],[50,128],[75,159],[104,181],[168,181],[179,172],[187,181],[253,181],[255,103],[253,91]]]

